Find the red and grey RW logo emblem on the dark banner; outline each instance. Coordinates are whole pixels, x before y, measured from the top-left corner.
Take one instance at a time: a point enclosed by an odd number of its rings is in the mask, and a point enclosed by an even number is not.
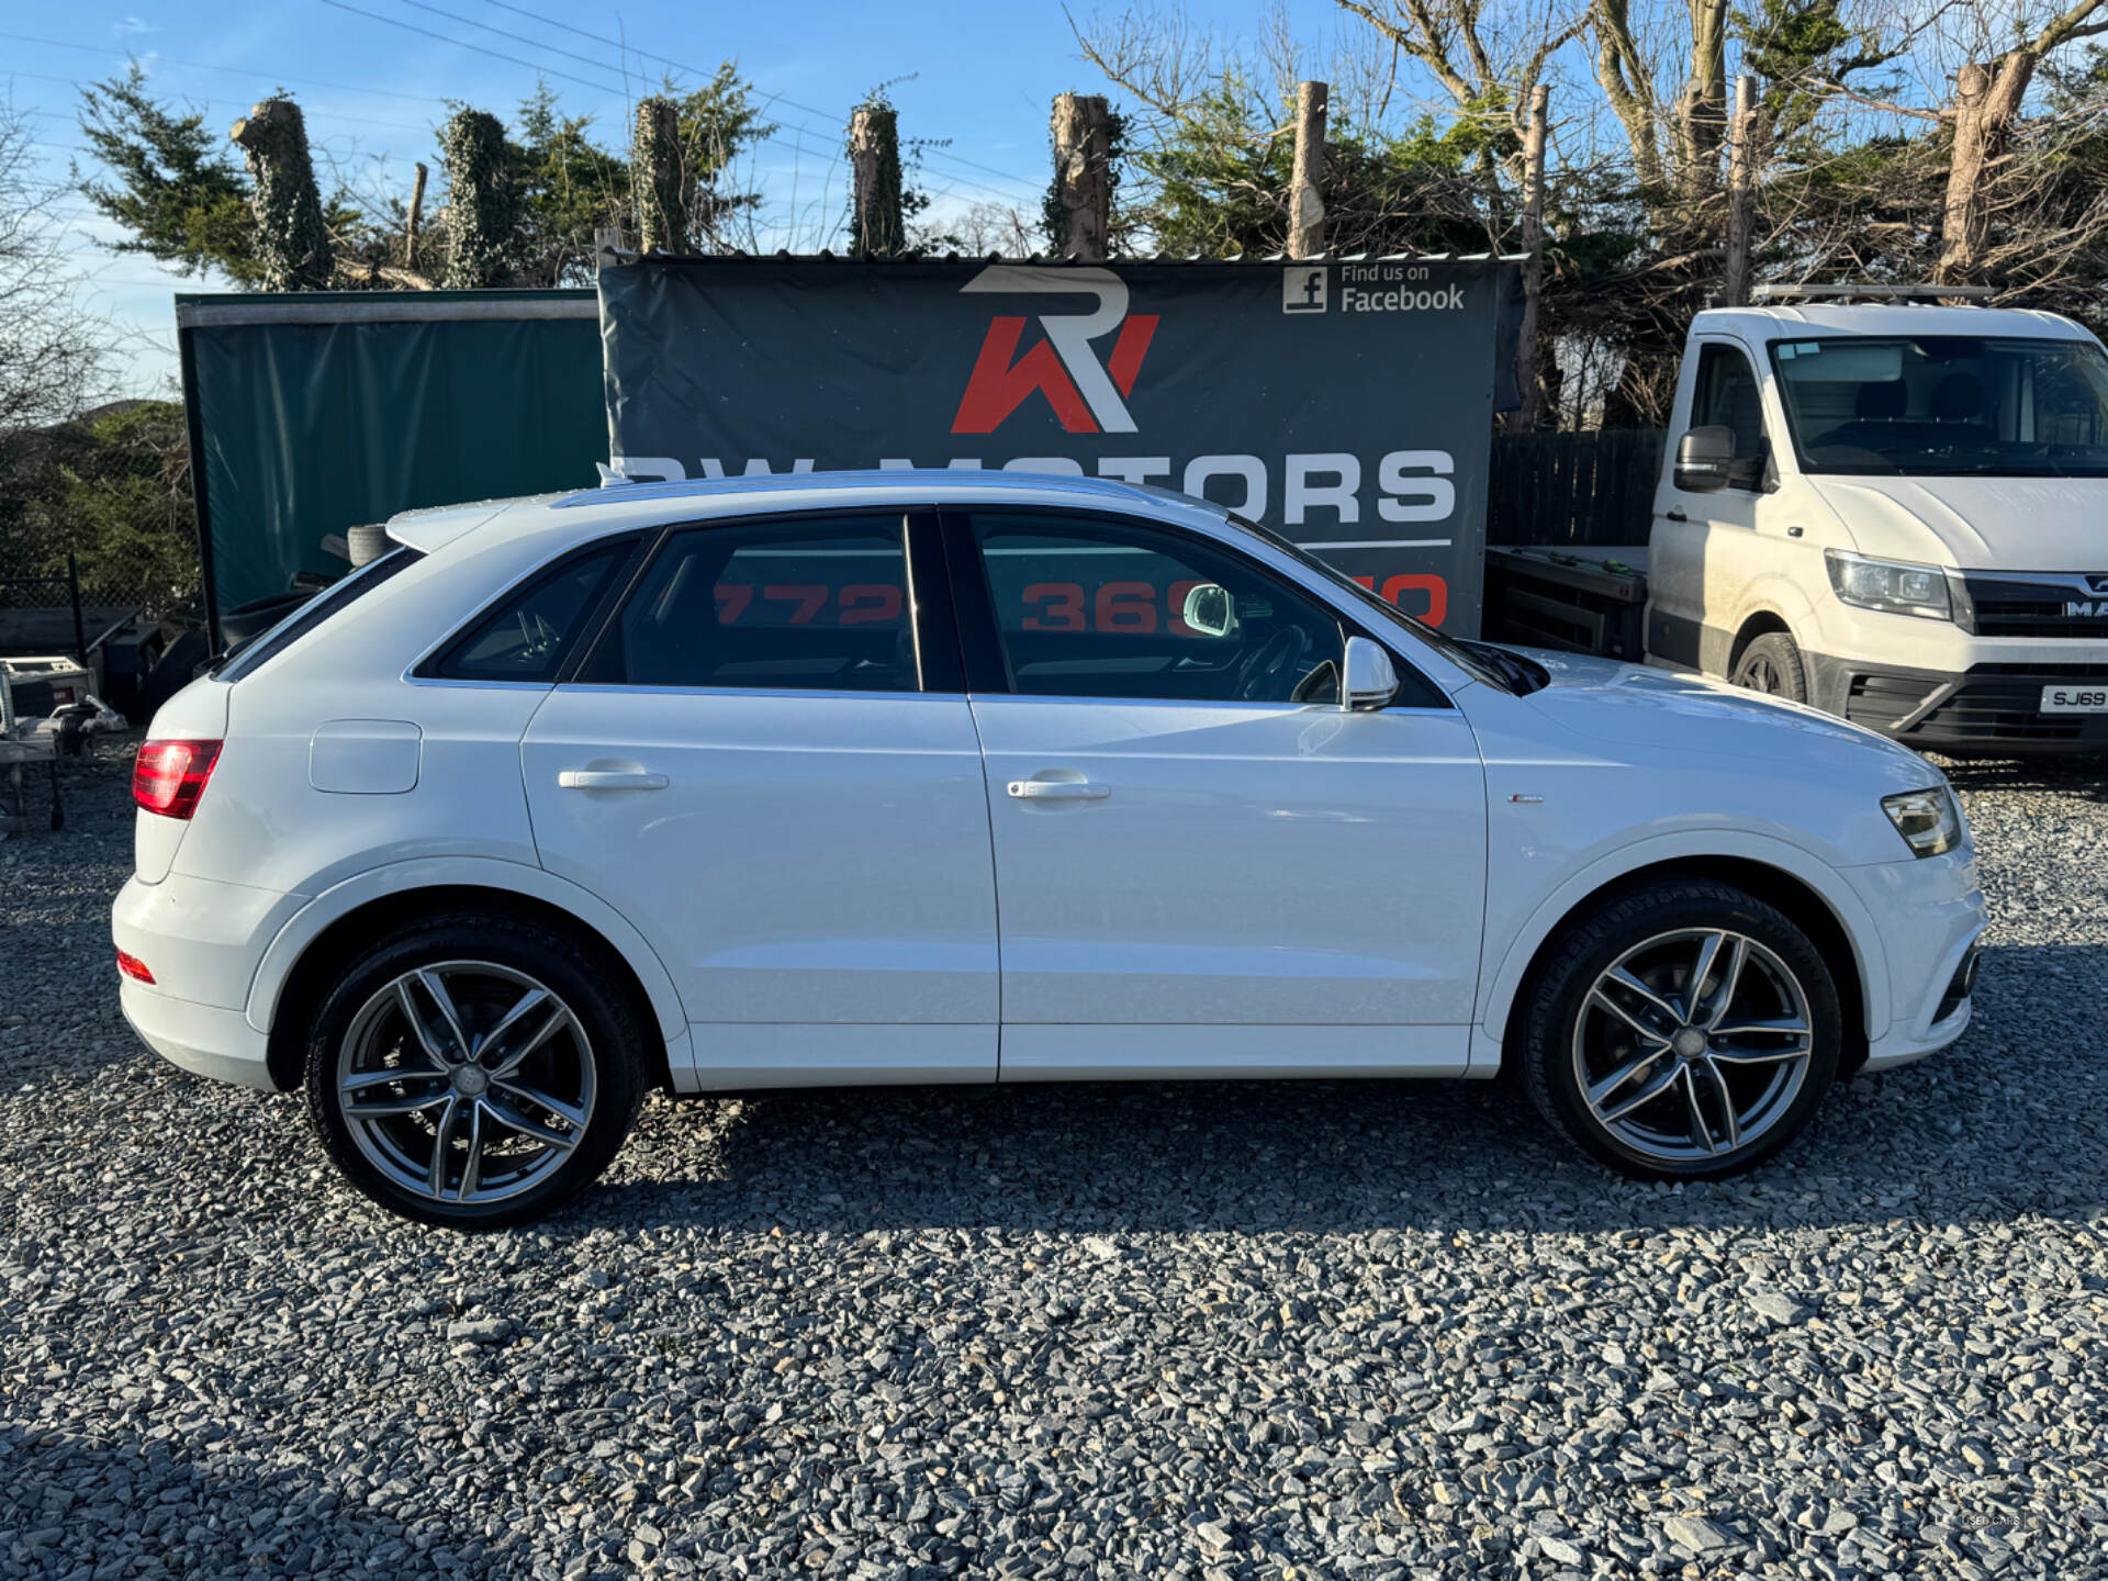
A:
[[[1084,295],[1086,312],[1039,316],[1041,339],[1018,354],[1022,314],[997,314],[980,339],[980,354],[965,379],[955,434],[993,434],[1033,394],[1046,396],[1069,434],[1132,434],[1128,396],[1157,333],[1157,314],[1128,316],[1128,285],[1111,270],[1043,270],[991,264],[959,291],[995,295]],[[1115,333],[1117,331],[1117,333]],[[1113,335],[1105,360],[1092,341]]]

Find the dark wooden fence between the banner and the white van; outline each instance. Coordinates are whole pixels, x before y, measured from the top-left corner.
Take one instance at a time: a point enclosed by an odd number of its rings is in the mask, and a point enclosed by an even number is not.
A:
[[[1665,434],[1495,434],[1488,544],[1644,544]]]

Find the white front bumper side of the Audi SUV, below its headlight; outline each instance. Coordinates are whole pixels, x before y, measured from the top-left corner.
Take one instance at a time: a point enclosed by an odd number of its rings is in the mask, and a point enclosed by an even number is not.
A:
[[[1868,913],[1880,928],[1887,961],[1887,1022],[1868,1043],[1866,1071],[1887,1071],[1925,1058],[1969,1027],[1969,961],[1984,936],[1984,892],[1977,887],[1975,852],[1844,868]]]

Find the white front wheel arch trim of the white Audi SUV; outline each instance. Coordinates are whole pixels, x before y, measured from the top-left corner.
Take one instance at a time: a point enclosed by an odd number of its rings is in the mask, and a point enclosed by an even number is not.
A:
[[[1853,965],[1859,972],[1859,997],[1866,1006],[1868,1041],[1889,1031],[1889,961],[1880,946],[1880,932],[1874,915],[1838,868],[1817,860],[1798,845],[1767,839],[1764,835],[1722,828],[1672,831],[1621,845],[1564,875],[1537,902],[1522,928],[1499,946],[1499,959],[1495,959],[1495,944],[1488,940],[1486,968],[1480,974],[1480,982],[1486,987],[1480,995],[1480,1037],[1473,1039],[1471,1075],[1490,1075],[1499,1067],[1507,1018],[1514,1012],[1516,997],[1522,993],[1530,959],[1560,923],[1575,913],[1575,906],[1604,885],[1617,883],[1640,868],[1705,858],[1760,862],[1813,890],[1830,906],[1830,915],[1844,930],[1844,938],[1851,940]]]

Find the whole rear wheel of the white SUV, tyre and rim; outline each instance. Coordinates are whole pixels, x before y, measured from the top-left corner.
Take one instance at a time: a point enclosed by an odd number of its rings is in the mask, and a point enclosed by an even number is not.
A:
[[[363,951],[308,1035],[308,1113],[346,1178],[428,1225],[540,1218],[643,1102],[637,1016],[575,938],[455,913]]]

